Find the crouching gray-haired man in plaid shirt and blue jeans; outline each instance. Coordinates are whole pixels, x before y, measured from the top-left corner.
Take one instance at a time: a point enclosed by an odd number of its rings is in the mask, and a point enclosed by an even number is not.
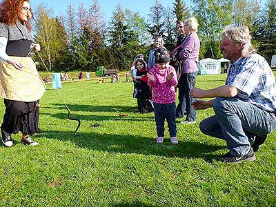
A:
[[[200,123],[205,135],[224,139],[230,150],[219,161],[254,161],[255,152],[276,128],[276,83],[264,57],[257,55],[247,27],[227,26],[220,50],[230,60],[226,84],[211,90],[193,88],[196,110],[213,107],[215,116]]]

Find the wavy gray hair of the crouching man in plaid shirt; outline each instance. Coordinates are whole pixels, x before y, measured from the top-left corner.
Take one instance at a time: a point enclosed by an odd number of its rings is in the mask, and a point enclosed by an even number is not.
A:
[[[247,26],[235,27],[233,25],[226,26],[221,32],[222,38],[226,37],[233,43],[242,43],[242,57],[248,57],[250,53],[254,52],[255,49],[251,43],[251,35]]]

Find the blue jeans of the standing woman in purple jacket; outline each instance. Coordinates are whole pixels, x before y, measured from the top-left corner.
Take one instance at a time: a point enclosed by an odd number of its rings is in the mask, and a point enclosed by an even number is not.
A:
[[[190,91],[195,88],[195,78],[197,72],[190,72],[184,74],[184,99],[186,101],[186,120],[197,121],[197,111],[193,108],[192,103],[195,102],[195,98],[192,98]]]

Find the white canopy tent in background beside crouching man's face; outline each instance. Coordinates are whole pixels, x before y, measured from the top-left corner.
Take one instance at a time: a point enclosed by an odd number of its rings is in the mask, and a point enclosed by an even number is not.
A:
[[[221,73],[221,63],[229,62],[228,59],[201,59],[199,61],[199,75],[215,75]]]

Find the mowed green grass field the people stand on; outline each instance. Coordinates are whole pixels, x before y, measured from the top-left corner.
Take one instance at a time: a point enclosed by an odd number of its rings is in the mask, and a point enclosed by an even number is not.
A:
[[[226,75],[199,76],[197,87],[224,84]],[[0,206],[276,206],[275,132],[242,164],[215,161],[224,141],[177,123],[179,144],[155,144],[154,114],[137,112],[132,83],[83,81],[60,90],[72,117],[47,85],[41,99],[39,146],[0,146]],[[1,116],[4,112],[0,105]],[[91,125],[100,126],[92,128]]]

